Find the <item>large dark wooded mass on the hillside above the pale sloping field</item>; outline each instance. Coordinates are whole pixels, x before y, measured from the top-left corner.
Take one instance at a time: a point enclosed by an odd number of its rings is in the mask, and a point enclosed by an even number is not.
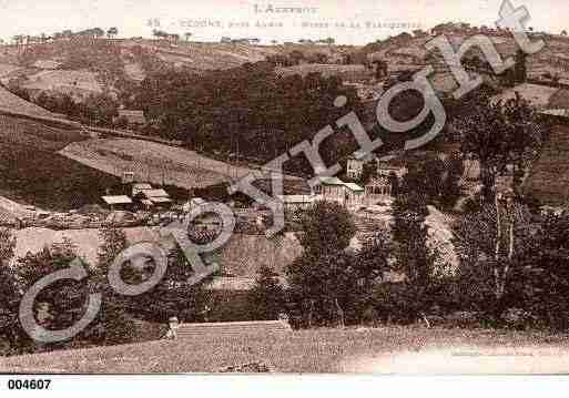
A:
[[[347,96],[346,109],[334,106],[338,95]],[[133,102],[169,139],[205,152],[238,149],[241,155],[263,162],[312,139],[349,110],[360,110],[356,92],[339,79],[278,76],[266,62],[202,74],[156,73],[142,82]],[[349,143],[347,132],[326,140],[324,157],[342,159],[355,149]],[[287,166],[306,169],[294,162]]]

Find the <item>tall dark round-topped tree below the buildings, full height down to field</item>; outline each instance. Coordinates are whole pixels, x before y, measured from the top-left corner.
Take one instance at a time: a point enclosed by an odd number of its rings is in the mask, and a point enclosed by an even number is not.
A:
[[[301,224],[304,253],[286,269],[293,313],[308,327],[356,322],[363,265],[346,251],[356,232],[350,214],[317,202]]]

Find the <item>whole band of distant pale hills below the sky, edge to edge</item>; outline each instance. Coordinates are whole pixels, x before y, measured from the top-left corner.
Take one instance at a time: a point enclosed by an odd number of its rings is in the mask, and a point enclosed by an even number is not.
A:
[[[454,47],[479,31],[454,29],[445,32]],[[73,39],[58,40],[29,47],[3,45],[0,49],[0,81],[18,80],[21,86],[32,92],[50,91],[69,93],[75,98],[100,93],[105,89],[120,91],[121,80],[141,81],[148,73],[164,68],[185,68],[195,72],[224,70],[246,62],[265,60],[268,55],[286,55],[294,52],[305,58],[324,54],[331,65],[298,65],[285,68],[282,73],[305,74],[312,70],[325,74],[346,76],[369,75],[359,70],[366,60],[384,60],[389,70],[402,68],[420,69],[434,64],[437,75],[431,76],[438,90],[448,92],[455,88],[448,68],[438,51],[428,52],[425,44],[433,38],[426,34],[413,37],[399,34],[365,47],[322,45],[312,43],[284,43],[277,45],[253,45],[244,43],[185,42],[172,43],[151,39]],[[502,57],[516,52],[510,35],[491,33],[491,41]],[[528,57],[530,78],[540,78],[549,72],[561,80],[569,79],[569,40],[559,35],[539,35],[547,45],[537,54]],[[479,54],[478,50],[470,50]],[[341,65],[349,55],[352,65]],[[334,64],[336,63],[336,64]]]

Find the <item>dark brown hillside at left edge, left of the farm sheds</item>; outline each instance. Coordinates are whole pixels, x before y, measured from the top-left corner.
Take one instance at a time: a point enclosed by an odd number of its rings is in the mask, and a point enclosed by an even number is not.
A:
[[[47,210],[99,201],[120,178],[58,154],[83,139],[78,129],[0,114],[0,195]]]

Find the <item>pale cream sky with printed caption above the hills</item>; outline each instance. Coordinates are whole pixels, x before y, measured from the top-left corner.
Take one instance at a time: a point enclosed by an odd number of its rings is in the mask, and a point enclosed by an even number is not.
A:
[[[569,30],[569,1],[511,0],[527,7],[535,30]],[[324,39],[365,44],[402,31],[459,21],[494,27],[501,0],[0,0],[0,38],[116,27],[119,37],[151,37],[153,29],[191,32],[196,41],[222,37]],[[277,12],[301,8],[303,12]]]

